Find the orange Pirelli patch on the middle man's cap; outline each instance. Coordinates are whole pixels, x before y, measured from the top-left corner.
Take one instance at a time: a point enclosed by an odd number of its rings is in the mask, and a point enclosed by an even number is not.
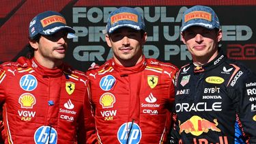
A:
[[[131,20],[131,21],[134,21],[135,23],[138,23],[138,16],[137,14],[132,14],[130,12],[122,12],[119,14],[115,14],[111,16],[111,25],[113,25],[113,23],[116,23],[120,20]]]

